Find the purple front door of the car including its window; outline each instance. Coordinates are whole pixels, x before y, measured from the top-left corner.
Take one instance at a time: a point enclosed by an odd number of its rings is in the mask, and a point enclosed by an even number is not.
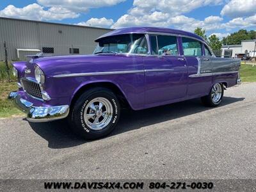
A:
[[[175,102],[186,97],[186,60],[179,56],[176,36],[150,35],[151,56],[145,65],[145,108]]]

